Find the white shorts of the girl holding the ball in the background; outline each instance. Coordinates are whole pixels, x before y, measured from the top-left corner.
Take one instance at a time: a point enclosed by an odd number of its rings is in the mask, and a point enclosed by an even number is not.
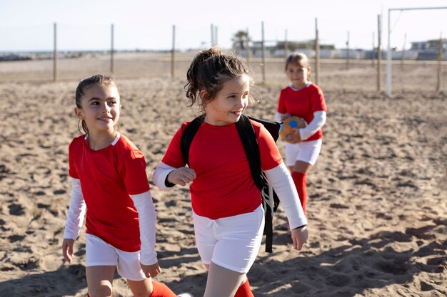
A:
[[[315,165],[318,155],[320,155],[323,140],[311,140],[298,143],[286,142],[286,165],[291,167],[296,161],[303,161],[310,165]]]

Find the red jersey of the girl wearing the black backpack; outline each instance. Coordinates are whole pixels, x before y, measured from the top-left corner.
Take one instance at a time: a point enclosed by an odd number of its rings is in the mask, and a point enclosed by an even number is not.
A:
[[[271,170],[282,162],[270,133],[251,121],[261,153],[262,170]],[[181,125],[169,144],[163,162],[183,167]],[[216,126],[202,123],[191,142],[189,164],[196,172],[190,186],[194,212],[209,219],[232,217],[253,212],[261,204],[261,192],[253,182],[250,165],[235,124]]]

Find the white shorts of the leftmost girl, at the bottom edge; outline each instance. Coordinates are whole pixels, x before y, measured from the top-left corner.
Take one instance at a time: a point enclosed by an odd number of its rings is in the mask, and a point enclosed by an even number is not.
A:
[[[140,266],[139,251],[121,251],[92,234],[86,234],[86,267],[89,266],[116,266],[119,275],[126,279],[146,279]]]

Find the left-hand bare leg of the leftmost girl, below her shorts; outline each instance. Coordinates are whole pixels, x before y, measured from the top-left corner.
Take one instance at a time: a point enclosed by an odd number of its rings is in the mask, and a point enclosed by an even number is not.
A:
[[[114,274],[115,266],[86,267],[86,278],[89,296],[112,296],[112,281],[114,280]]]

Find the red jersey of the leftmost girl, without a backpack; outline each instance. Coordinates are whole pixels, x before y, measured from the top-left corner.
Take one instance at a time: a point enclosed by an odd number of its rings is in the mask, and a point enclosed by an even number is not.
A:
[[[81,181],[86,233],[123,251],[141,247],[138,212],[130,195],[149,191],[144,155],[124,135],[115,145],[91,150],[85,135],[69,146],[69,174]]]

